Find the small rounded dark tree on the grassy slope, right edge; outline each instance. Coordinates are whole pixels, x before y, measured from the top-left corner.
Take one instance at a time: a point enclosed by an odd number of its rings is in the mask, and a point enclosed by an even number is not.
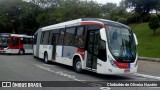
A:
[[[157,16],[152,16],[149,21],[149,27],[153,30],[154,35],[159,26],[159,18]]]

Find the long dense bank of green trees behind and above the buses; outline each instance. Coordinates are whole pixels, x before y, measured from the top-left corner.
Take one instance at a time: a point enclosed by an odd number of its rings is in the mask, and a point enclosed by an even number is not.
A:
[[[0,32],[33,34],[40,27],[77,18],[104,18],[124,24],[140,22],[139,16],[126,11],[125,1],[117,6],[93,0],[0,0]]]

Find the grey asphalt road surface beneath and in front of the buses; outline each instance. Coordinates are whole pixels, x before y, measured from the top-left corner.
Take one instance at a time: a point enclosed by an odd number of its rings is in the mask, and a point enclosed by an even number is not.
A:
[[[159,72],[154,70],[158,68],[158,66],[160,67],[160,63],[156,62],[157,66],[153,66],[153,70],[152,66],[148,65],[148,63],[146,63],[146,61],[139,61],[137,74],[116,76],[100,75],[89,71],[79,74],[74,72],[72,67],[57,63],[45,64],[43,60],[33,58],[32,55],[0,55],[0,81],[62,81],[60,82],[61,87],[0,88],[0,90],[160,90],[158,87],[104,87],[98,82],[160,81],[159,73],[153,73]],[[74,81],[82,85],[87,84],[89,87],[65,87],[70,83],[74,84]],[[100,86],[97,87],[98,85]]]

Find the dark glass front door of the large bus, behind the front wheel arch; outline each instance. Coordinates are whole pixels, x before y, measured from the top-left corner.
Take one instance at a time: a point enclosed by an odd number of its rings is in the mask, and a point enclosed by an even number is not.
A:
[[[87,64],[86,67],[91,70],[97,69],[97,55],[98,55],[98,30],[87,31]]]

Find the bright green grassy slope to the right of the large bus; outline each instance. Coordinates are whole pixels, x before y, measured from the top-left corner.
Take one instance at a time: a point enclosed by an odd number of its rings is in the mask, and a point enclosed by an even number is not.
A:
[[[131,24],[130,27],[138,39],[139,56],[160,58],[160,28],[154,35],[148,23]]]

